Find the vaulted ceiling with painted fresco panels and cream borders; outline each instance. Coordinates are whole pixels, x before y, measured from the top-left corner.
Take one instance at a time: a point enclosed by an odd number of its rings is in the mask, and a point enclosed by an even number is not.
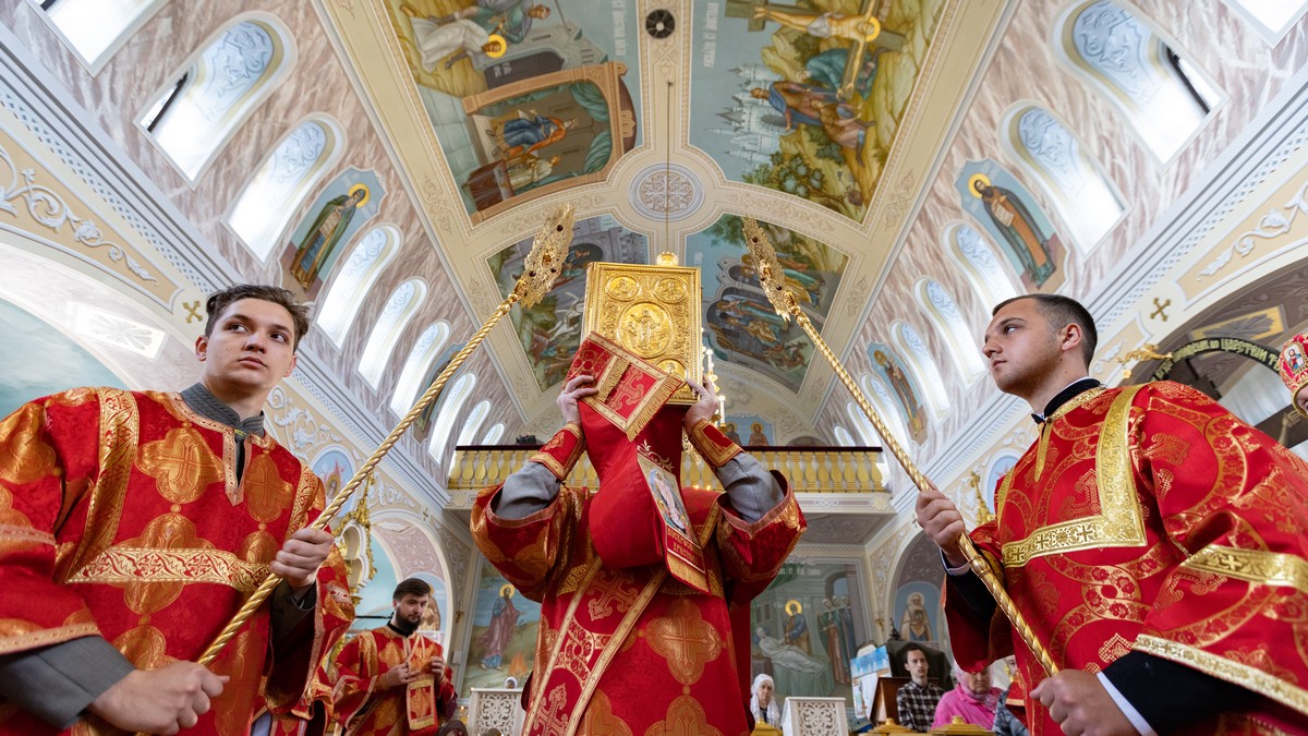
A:
[[[927,181],[903,169],[937,155],[977,59],[976,38],[944,41],[998,18],[951,0],[327,9],[475,320],[510,292],[544,215],[577,207],[576,276],[489,338],[527,424],[549,423],[579,342],[585,263],[671,251],[702,270],[719,375],[759,389],[742,433],[774,414],[812,422],[832,373],[769,306],[740,216],[766,220],[800,308],[841,352]],[[789,441],[793,424],[759,433]]]

